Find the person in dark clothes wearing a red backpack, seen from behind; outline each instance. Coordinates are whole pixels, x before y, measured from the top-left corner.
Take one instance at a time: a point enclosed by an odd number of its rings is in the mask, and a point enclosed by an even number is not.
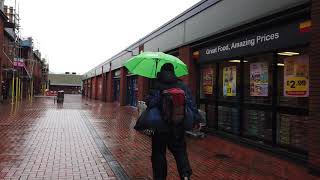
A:
[[[190,89],[176,77],[172,64],[166,63],[161,67],[146,103],[148,109],[158,108],[161,120],[167,124],[165,130],[154,130],[152,135],[153,178],[164,180],[167,177],[168,147],[176,160],[180,178],[189,180],[192,170],[187,154],[185,131],[190,126],[188,123],[192,123],[191,129],[198,128],[201,116],[193,103]],[[186,113],[186,110],[189,113]]]

